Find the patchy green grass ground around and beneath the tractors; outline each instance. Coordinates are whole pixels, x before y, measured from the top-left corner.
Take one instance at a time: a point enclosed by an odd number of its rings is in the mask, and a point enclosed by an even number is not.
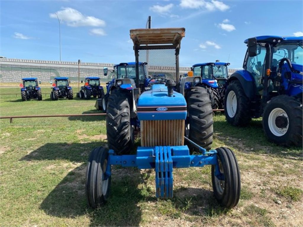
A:
[[[49,92],[50,88],[43,90]],[[9,92],[18,93],[19,88],[0,88],[0,94]],[[19,96],[0,95],[0,116],[100,113],[94,105],[95,99],[52,101],[43,97],[42,101],[22,102]],[[263,215],[263,210],[249,211],[246,207],[252,201],[278,206],[271,199],[277,192],[252,190],[259,185],[283,189],[285,181],[273,179],[285,176],[289,186],[299,188],[293,179],[298,179],[302,168],[301,149],[269,143],[260,119],[247,128],[228,125],[221,114],[216,114],[214,121],[212,147],[231,147],[240,166],[242,191],[237,209],[223,209],[216,202],[210,166],[174,169],[174,198],[167,200],[155,198],[154,170],[115,166],[109,202],[98,210],[89,209],[84,186],[86,162],[94,147],[107,143],[105,117],[20,118],[12,124],[1,119],[0,225],[223,226],[228,221],[235,226],[273,226],[276,214],[266,209]],[[285,163],[288,169],[282,171],[279,166]],[[281,191],[281,196],[284,194],[295,195],[292,215],[300,219],[295,211],[301,192],[288,189]]]

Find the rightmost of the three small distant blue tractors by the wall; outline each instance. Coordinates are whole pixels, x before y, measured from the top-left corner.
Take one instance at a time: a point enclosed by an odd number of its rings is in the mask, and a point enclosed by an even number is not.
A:
[[[81,81],[83,83],[83,81]],[[91,96],[104,97],[103,87],[100,86],[100,77],[85,77],[84,86],[80,88],[79,98],[90,99]]]

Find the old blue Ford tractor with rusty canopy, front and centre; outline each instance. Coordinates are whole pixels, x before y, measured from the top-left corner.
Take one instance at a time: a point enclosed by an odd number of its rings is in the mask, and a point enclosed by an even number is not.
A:
[[[113,165],[155,169],[158,198],[173,197],[174,168],[211,165],[216,200],[226,208],[236,206],[241,185],[238,163],[230,149],[210,149],[211,102],[205,88],[194,86],[201,77],[179,78],[185,28],[133,29],[130,36],[135,64],[121,67],[129,74],[122,76],[118,70],[111,87],[106,111],[108,148],[95,148],[88,159],[88,205],[98,208],[108,201]],[[147,77],[159,71],[166,78]],[[191,86],[185,89],[186,83]],[[134,155],[135,135],[141,137],[141,146]],[[192,154],[194,150],[198,154]]]

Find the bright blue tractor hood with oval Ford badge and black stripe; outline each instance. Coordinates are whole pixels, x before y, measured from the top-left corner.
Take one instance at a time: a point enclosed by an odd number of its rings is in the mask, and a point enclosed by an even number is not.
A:
[[[186,100],[176,91],[169,97],[164,84],[154,84],[140,95],[137,111],[139,120],[185,120]]]

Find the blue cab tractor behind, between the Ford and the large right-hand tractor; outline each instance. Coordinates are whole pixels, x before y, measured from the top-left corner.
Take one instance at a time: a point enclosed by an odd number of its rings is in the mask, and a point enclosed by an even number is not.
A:
[[[228,65],[229,63],[225,62],[209,62],[192,66],[194,75],[202,77],[202,87],[205,87],[209,94],[212,109],[224,108]]]

